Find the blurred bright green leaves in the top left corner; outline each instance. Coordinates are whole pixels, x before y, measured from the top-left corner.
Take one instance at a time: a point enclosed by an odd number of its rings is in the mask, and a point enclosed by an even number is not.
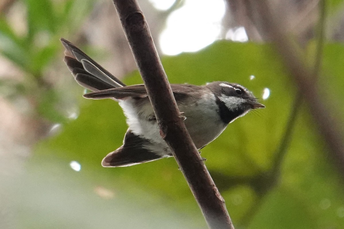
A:
[[[5,15],[0,17],[0,52],[21,67],[28,76],[42,76],[43,68],[56,56],[60,43],[57,31],[79,26],[90,11],[93,0],[26,0],[28,35],[18,37],[7,23]],[[78,8],[75,13],[75,8]]]

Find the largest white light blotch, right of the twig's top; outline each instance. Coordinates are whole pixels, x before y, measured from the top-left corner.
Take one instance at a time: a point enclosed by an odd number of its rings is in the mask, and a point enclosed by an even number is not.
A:
[[[166,20],[160,48],[166,55],[195,52],[216,41],[225,14],[223,0],[185,0]]]

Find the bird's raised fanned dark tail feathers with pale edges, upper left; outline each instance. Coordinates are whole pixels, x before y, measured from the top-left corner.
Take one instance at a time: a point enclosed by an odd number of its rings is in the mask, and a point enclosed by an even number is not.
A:
[[[66,48],[64,61],[80,85],[92,91],[126,86],[71,42],[64,38],[61,42]]]

